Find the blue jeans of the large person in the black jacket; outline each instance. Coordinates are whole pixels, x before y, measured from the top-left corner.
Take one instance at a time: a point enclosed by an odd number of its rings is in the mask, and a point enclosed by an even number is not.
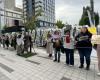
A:
[[[91,62],[91,51],[92,48],[80,48],[78,49],[80,56],[80,63],[84,65],[84,58],[86,59],[86,64],[89,66]]]

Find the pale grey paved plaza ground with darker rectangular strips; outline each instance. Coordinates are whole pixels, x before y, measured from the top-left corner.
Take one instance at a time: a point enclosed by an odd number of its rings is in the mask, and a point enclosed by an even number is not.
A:
[[[79,57],[75,54],[75,67],[54,63],[43,49],[35,49],[38,55],[22,58],[15,51],[0,48],[0,80],[100,80],[97,73],[97,59],[92,58],[91,70],[78,69]]]

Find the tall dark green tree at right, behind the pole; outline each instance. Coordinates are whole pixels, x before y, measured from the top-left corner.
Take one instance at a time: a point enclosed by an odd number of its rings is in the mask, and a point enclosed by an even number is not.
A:
[[[91,8],[90,7],[83,7],[83,14],[82,17],[79,21],[79,25],[83,26],[83,25],[88,25],[90,26],[90,21],[89,21],[89,17],[88,17],[88,13],[87,10],[90,11],[91,14]],[[99,24],[99,14],[94,12],[94,21],[95,21],[95,26],[97,26]]]

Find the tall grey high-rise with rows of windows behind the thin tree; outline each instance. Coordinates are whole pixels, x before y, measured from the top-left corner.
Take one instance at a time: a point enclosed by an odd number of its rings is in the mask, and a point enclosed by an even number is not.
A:
[[[23,0],[23,12],[27,19],[32,18],[41,10],[38,16],[38,27],[54,27],[55,0]]]

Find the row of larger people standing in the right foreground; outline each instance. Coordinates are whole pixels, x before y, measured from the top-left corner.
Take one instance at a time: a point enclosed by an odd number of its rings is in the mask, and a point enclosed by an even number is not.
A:
[[[88,31],[86,26],[83,26],[80,32],[73,36],[71,30],[64,31],[65,35],[61,35],[59,31],[55,31],[52,35],[48,32],[47,35],[47,53],[52,57],[54,50],[54,62],[60,62],[61,52],[66,55],[66,65],[74,66],[74,51],[78,50],[80,56],[79,68],[84,68],[86,61],[86,70],[90,70],[91,52],[93,45],[91,43],[92,34]],[[97,47],[98,53],[98,67],[100,75],[100,45]]]

